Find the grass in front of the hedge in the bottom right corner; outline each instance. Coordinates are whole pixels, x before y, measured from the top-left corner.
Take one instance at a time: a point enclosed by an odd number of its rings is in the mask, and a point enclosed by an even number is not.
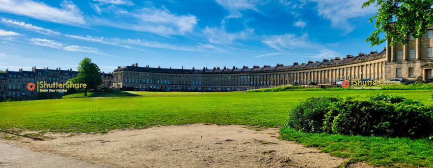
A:
[[[331,155],[387,167],[433,167],[433,142],[427,139],[305,133],[283,127],[281,139],[316,147]]]

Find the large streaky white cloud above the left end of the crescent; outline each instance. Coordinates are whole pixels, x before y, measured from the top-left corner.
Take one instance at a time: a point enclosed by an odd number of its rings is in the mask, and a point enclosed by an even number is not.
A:
[[[194,15],[177,15],[167,9],[142,8],[129,12],[116,7],[111,8],[112,20],[92,17],[92,22],[159,35],[184,35],[193,31],[198,20]]]

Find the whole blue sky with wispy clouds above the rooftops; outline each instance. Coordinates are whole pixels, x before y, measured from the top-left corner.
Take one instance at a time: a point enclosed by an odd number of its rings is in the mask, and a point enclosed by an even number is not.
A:
[[[371,50],[365,0],[0,0],[0,70],[285,65]]]

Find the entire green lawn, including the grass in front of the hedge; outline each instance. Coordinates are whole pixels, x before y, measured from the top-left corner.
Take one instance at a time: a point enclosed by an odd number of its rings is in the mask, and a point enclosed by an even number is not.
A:
[[[287,112],[312,96],[403,95],[431,105],[433,90],[318,90],[282,92],[141,92],[0,103],[0,130],[106,132],[153,125],[214,123],[283,126]],[[126,95],[126,96],[125,96]],[[100,95],[101,96],[101,95]],[[104,95],[102,95],[104,96]],[[68,98],[67,98],[68,97]],[[303,133],[282,128],[283,139],[374,165],[433,167],[432,141]]]

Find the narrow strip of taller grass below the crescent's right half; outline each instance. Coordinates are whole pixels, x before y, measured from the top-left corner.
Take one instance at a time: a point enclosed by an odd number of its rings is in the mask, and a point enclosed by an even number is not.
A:
[[[277,91],[318,91],[318,90],[359,90],[355,87],[360,86],[349,86],[348,88],[343,87],[326,87],[326,88],[314,88],[314,87],[304,87],[304,86],[282,86],[275,88],[265,88],[265,89],[253,89],[247,90],[247,92],[277,92]],[[366,88],[371,88],[371,86],[365,86]],[[433,89],[433,83],[417,83],[417,84],[401,84],[401,85],[378,85],[374,87],[380,87],[381,90],[428,90]],[[363,89],[363,90],[373,90],[373,89]]]

